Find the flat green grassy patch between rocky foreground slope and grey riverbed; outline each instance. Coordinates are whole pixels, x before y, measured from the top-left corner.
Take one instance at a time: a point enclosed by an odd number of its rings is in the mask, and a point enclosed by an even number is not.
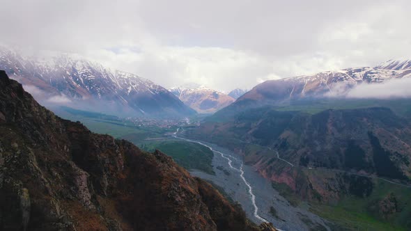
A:
[[[160,150],[170,157],[180,166],[186,169],[202,170],[205,173],[215,175],[212,170],[213,153],[210,149],[197,143],[185,141],[144,141],[139,147],[148,152]]]

